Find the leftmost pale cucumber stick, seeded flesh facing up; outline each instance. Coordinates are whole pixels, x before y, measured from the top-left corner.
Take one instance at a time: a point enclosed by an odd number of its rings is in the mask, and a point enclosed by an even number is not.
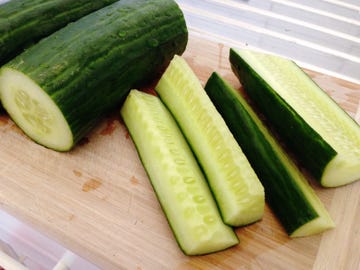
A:
[[[190,147],[161,100],[131,90],[120,113],[184,253],[236,245],[235,232],[223,223]]]

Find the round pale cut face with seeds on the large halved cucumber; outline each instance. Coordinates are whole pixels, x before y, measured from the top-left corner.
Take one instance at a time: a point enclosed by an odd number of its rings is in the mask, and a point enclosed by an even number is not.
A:
[[[38,144],[57,151],[73,146],[72,132],[62,112],[28,76],[2,68],[0,98],[13,121]]]

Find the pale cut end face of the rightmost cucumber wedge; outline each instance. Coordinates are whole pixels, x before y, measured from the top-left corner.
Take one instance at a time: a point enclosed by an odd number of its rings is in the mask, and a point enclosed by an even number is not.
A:
[[[344,160],[341,155],[335,156],[325,167],[321,177],[324,187],[338,187],[360,180],[360,160]]]

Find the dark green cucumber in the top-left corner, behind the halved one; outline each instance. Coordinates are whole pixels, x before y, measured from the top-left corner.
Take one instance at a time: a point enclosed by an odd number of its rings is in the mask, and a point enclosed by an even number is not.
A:
[[[11,0],[0,5],[0,66],[31,44],[117,0]]]

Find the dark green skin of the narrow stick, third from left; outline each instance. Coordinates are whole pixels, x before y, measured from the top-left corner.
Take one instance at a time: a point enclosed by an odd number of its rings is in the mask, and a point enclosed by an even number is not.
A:
[[[318,214],[297,187],[289,168],[282,163],[244,107],[247,101],[242,97],[238,99],[233,92],[235,90],[230,87],[217,73],[213,73],[205,90],[263,184],[271,209],[291,235],[297,228],[318,217]]]

